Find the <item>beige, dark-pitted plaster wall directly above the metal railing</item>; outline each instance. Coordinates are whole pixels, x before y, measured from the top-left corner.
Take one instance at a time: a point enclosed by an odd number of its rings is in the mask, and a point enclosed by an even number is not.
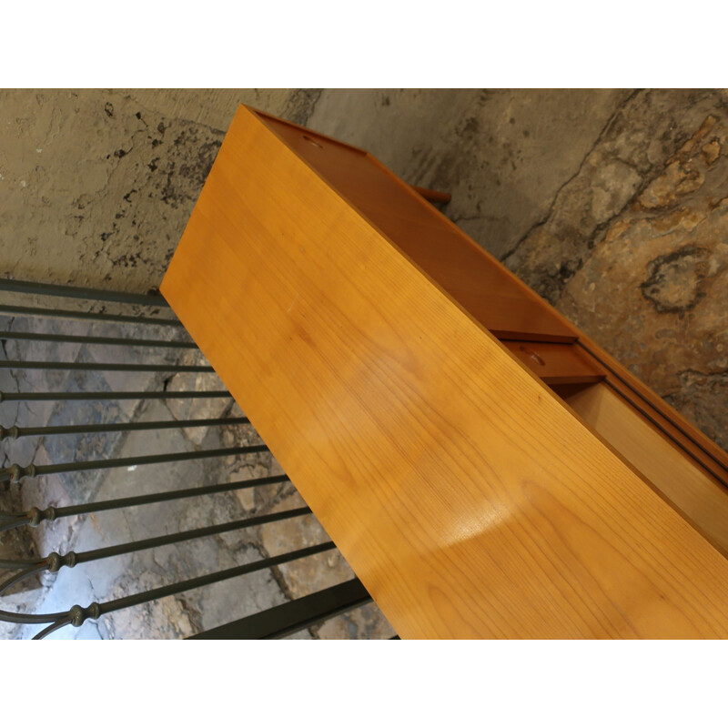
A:
[[[286,110],[275,94],[248,96]],[[235,108],[220,116],[190,103],[179,115],[177,96],[158,102],[160,110],[125,93],[3,92],[2,275],[158,284],[224,136],[197,118],[225,128]]]

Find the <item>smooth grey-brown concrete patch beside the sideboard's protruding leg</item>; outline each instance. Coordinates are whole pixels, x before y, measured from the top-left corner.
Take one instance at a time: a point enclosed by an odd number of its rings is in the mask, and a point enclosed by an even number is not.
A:
[[[410,184],[450,192],[448,217],[500,257],[548,214],[628,94],[324,91],[308,126],[369,150]]]

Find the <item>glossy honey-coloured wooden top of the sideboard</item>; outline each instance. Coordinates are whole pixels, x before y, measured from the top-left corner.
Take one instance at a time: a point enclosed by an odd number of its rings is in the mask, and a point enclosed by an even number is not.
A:
[[[162,292],[401,637],[728,633],[718,551],[244,107]]]

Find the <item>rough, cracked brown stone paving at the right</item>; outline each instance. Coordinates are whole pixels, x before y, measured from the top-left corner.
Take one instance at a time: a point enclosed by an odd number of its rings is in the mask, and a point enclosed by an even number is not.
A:
[[[726,100],[718,91],[629,96],[551,216],[506,260],[723,449]],[[597,193],[610,204],[597,205]]]

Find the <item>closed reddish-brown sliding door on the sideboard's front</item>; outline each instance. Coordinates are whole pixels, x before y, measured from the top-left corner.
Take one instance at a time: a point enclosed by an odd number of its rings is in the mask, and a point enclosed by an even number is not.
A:
[[[259,116],[499,339],[575,338],[537,294],[376,159],[299,126]]]

